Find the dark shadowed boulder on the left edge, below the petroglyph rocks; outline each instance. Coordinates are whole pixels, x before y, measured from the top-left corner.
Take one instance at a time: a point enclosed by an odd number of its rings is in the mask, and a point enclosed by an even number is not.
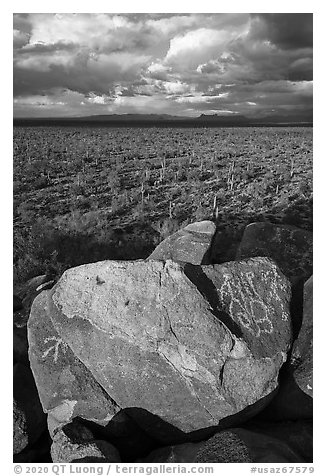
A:
[[[13,372],[13,432],[14,454],[32,445],[46,429],[32,373],[28,367],[16,364]]]

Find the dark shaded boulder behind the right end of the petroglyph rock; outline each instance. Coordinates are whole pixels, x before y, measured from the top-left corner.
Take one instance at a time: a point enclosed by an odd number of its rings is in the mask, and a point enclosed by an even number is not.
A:
[[[312,233],[290,225],[250,223],[244,231],[236,259],[268,256],[291,279],[312,274]]]

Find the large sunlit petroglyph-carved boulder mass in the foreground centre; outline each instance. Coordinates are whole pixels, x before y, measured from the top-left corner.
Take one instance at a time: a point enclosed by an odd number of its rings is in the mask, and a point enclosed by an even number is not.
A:
[[[65,421],[90,405],[97,420],[125,408],[155,437],[164,424],[188,433],[248,406],[255,413],[291,345],[289,300],[289,282],[267,258],[72,268],[29,321],[43,407]]]

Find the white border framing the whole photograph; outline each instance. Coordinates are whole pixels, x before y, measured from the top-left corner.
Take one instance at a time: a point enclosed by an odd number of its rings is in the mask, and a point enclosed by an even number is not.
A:
[[[117,8],[118,6],[118,8]],[[224,8],[223,8],[224,7]],[[227,7],[227,8],[225,8]],[[323,417],[325,415],[325,310],[322,306],[322,297],[324,290],[325,270],[324,270],[324,254],[325,241],[324,222],[325,222],[325,124],[324,124],[324,96],[325,81],[324,63],[325,63],[325,8],[322,1],[295,1],[285,2],[274,0],[271,3],[261,1],[246,2],[216,2],[204,1],[192,2],[182,0],[165,0],[162,3],[153,1],[62,1],[58,0],[53,3],[40,1],[13,1],[7,0],[2,6],[0,15],[1,21],[1,98],[2,98],[2,114],[1,114],[1,204],[2,204],[2,243],[1,243],[1,284],[0,289],[3,291],[5,305],[2,305],[2,392],[1,392],[1,408],[2,408],[2,431],[1,431],[1,455],[3,463],[3,474],[13,474],[12,465],[12,14],[15,12],[108,12],[108,13],[314,13],[314,256],[315,256],[315,292],[314,292],[314,315],[315,315],[315,332],[314,332],[314,374],[315,374],[315,432],[314,432],[314,467],[316,474],[322,474],[324,449],[324,428]],[[323,213],[324,212],[324,213]],[[324,271],[324,273],[322,273]],[[322,433],[321,433],[322,432]],[[8,467],[7,467],[8,466]],[[249,474],[251,465],[239,464],[219,464],[217,471],[222,470],[223,474]],[[271,465],[266,465],[271,466]],[[279,465],[274,465],[279,466]],[[286,466],[286,465],[285,465]],[[308,465],[309,466],[309,465]],[[7,471],[8,470],[8,471]],[[308,473],[306,473],[308,474]]]

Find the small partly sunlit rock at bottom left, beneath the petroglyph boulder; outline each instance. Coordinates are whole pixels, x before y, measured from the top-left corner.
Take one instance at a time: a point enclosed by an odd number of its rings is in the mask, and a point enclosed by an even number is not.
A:
[[[58,430],[51,446],[53,463],[119,463],[116,448],[103,440],[96,440],[92,432],[73,421]]]

